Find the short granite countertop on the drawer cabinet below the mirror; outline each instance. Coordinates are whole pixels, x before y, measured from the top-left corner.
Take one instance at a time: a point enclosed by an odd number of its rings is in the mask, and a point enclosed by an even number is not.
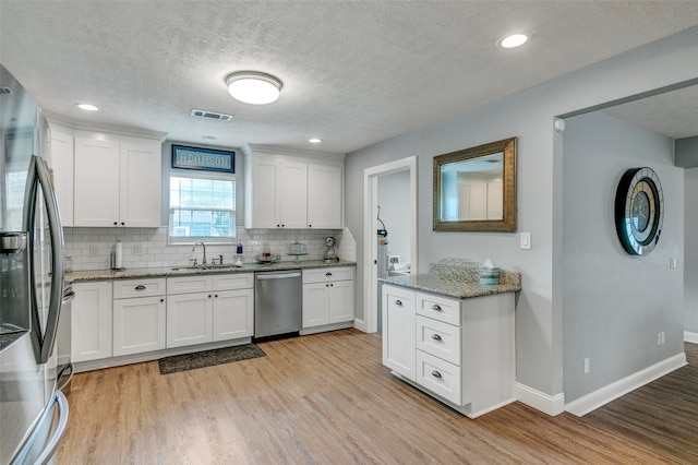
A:
[[[521,290],[521,274],[505,271],[500,272],[500,284],[495,285],[483,285],[480,284],[479,281],[467,282],[462,279],[452,279],[434,274],[389,276],[378,281],[395,286],[455,297],[456,299],[468,299],[471,297],[517,293]]]

